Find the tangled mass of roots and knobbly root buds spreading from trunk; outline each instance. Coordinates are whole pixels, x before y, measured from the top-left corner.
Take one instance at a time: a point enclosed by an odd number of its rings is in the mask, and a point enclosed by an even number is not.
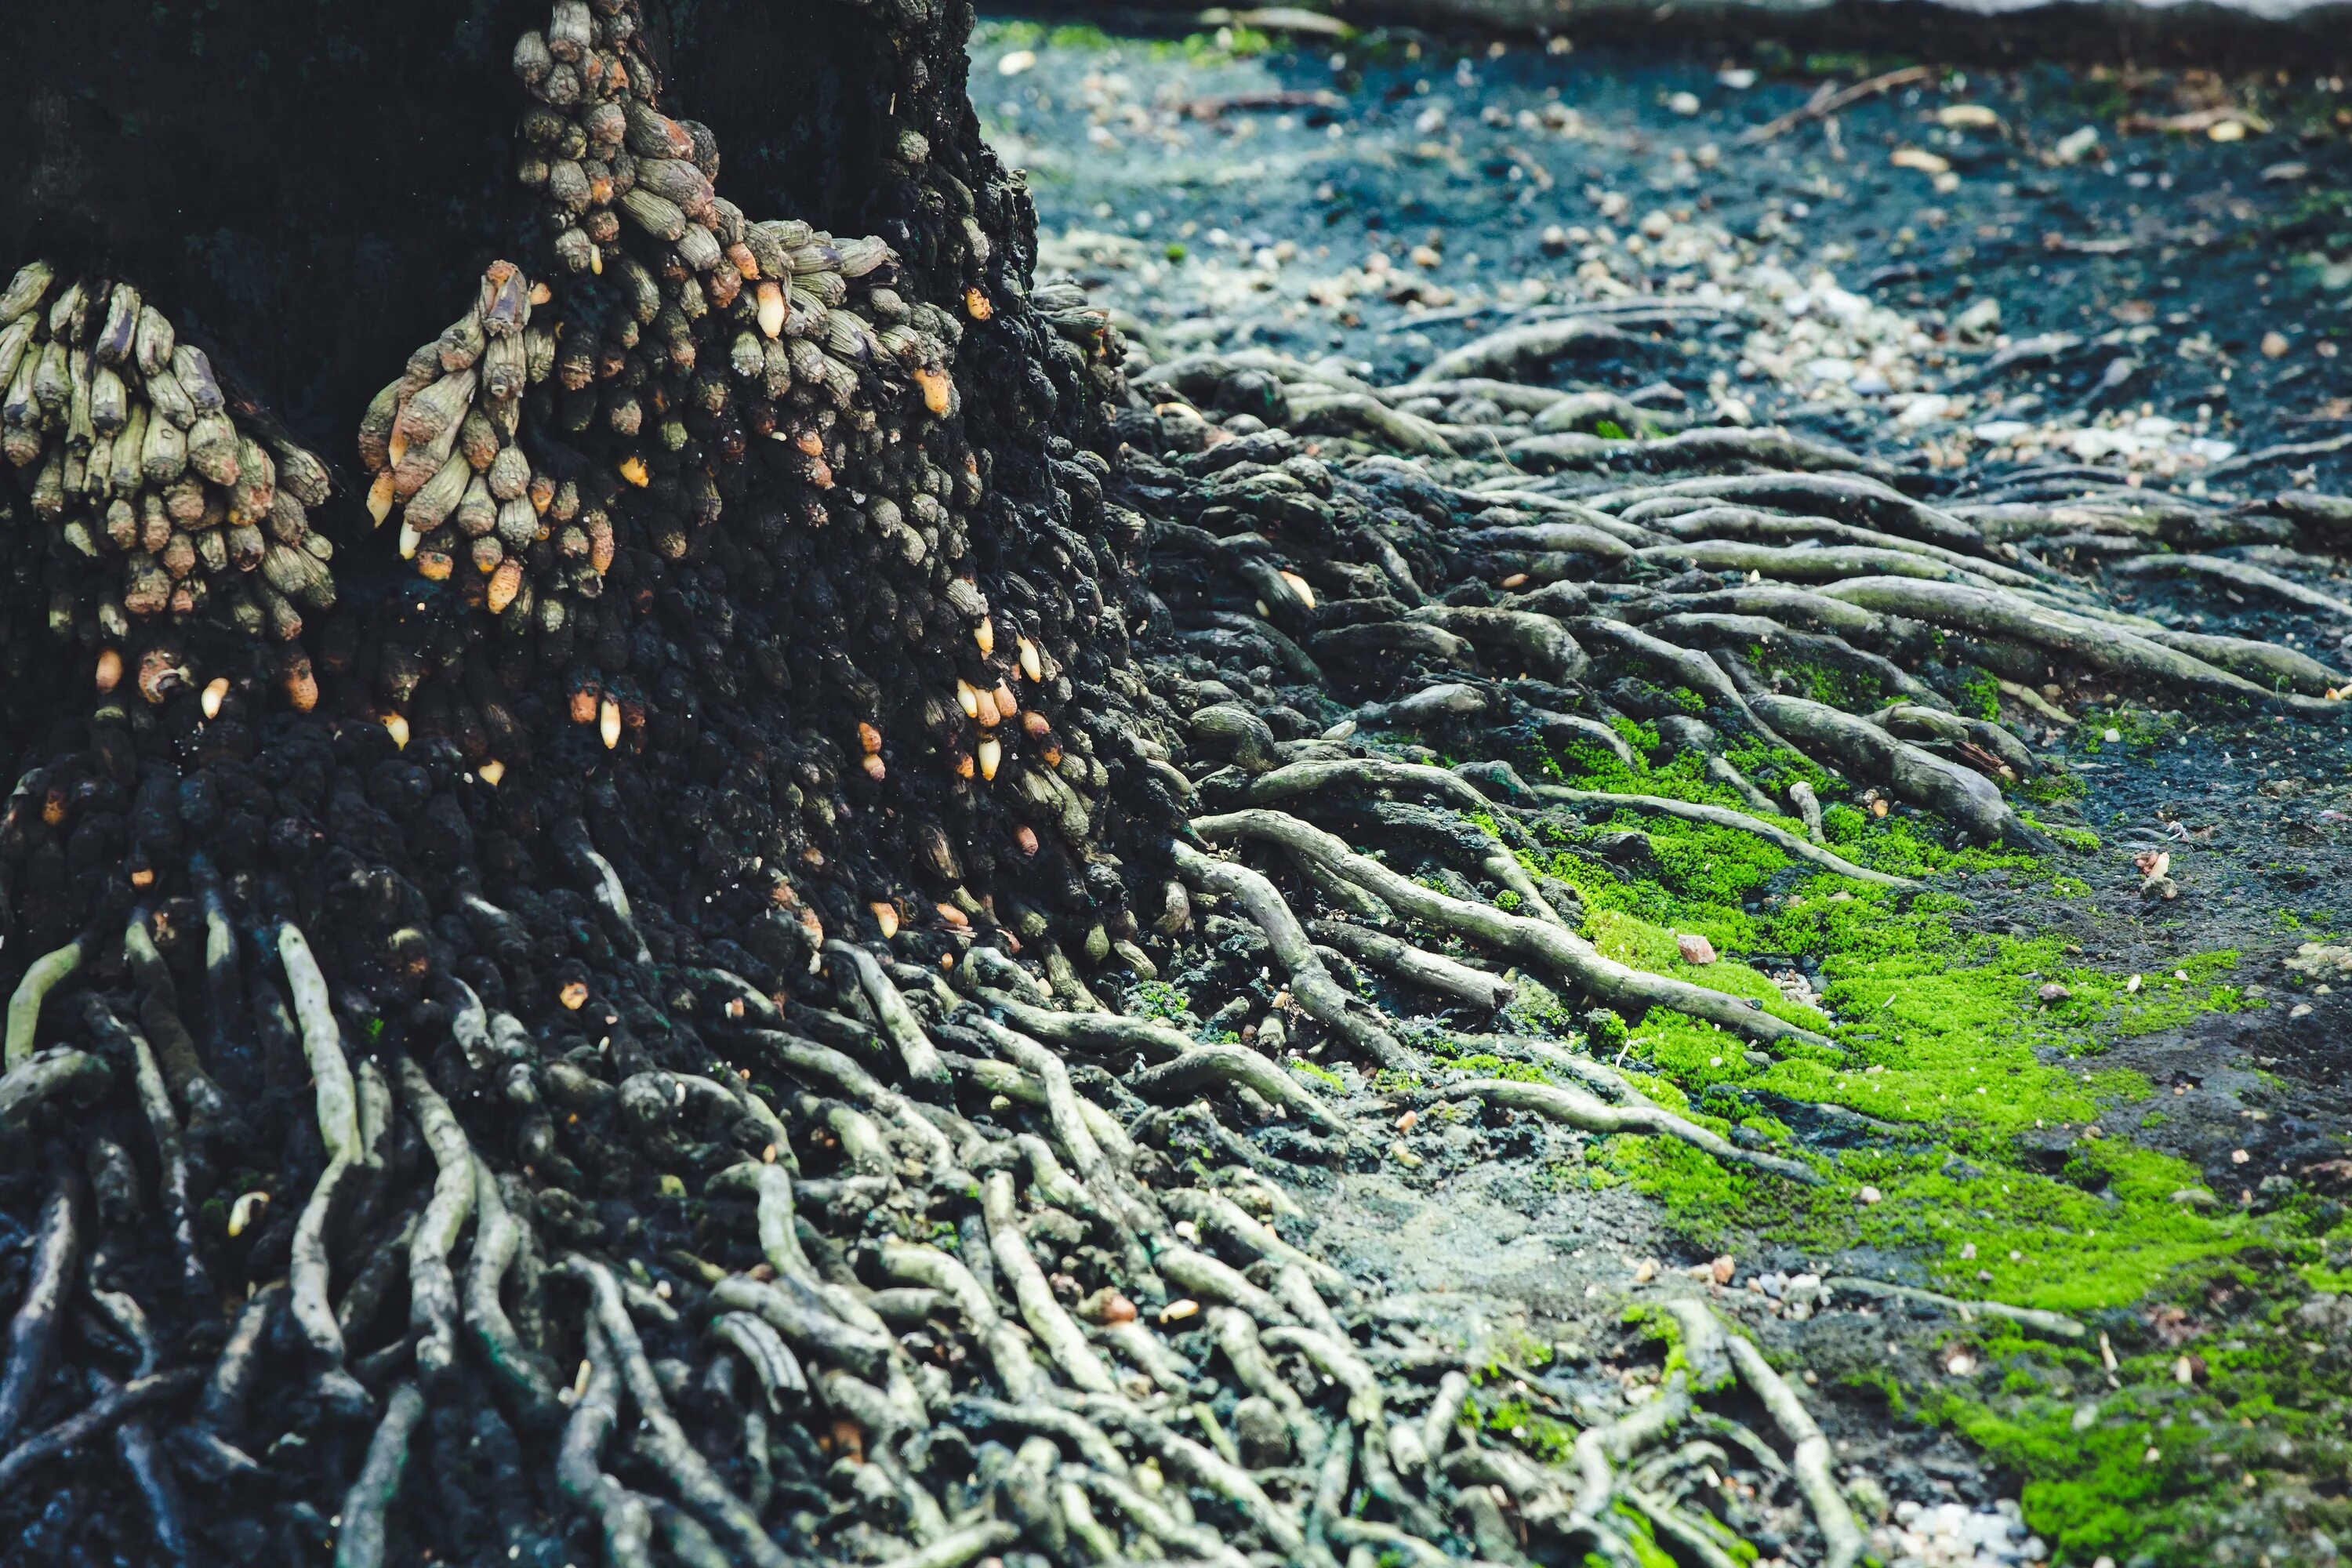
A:
[[[0,654],[92,682],[0,823],[12,1561],[1743,1561],[1708,1465],[1858,1561],[1703,1288],[1571,1453],[1465,1415],[1486,1347],[1374,1314],[1268,1178],[1397,1110],[1301,1051],[1816,1182],[1583,1037],[1470,1077],[1376,997],[1820,1048],[1606,957],[1519,851],[1653,811],[1910,886],[1818,780],[2032,844],[2065,686],[2352,682],[2051,564],[2145,536],[2122,503],[1604,442],[1508,378],[1543,343],[1129,383],[960,122],[891,132],[922,254],[750,216],[640,24],[557,0],[515,45],[536,230],[454,282],[360,482],[134,280],[0,294]],[[1515,400],[1536,435],[1482,421]],[[1529,766],[1630,738],[1743,804]],[[1247,1041],[1136,1006],[1200,936]]]

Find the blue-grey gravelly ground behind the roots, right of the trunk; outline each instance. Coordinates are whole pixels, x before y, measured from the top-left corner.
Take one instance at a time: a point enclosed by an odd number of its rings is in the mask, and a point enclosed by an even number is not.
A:
[[[1724,310],[1585,367],[1670,411],[2256,487],[2312,458],[2204,470],[2352,435],[2340,78],[1237,42],[1014,24],[976,45],[1044,261],[1162,353],[1261,343],[1397,381],[1515,310],[1635,292]]]

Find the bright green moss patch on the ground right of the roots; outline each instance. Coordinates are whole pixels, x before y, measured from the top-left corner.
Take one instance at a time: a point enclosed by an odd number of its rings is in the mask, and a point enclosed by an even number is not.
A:
[[[1649,741],[1642,726],[1621,729],[1635,731],[1635,745]],[[2150,748],[2173,731],[2150,719],[2124,733],[2124,748]],[[1538,766],[1581,788],[1748,809],[1696,757],[1628,766],[1595,752]],[[1738,766],[1757,780],[1802,776],[1785,752],[1752,752]],[[2070,776],[2056,778],[2067,788],[2049,790],[2046,804],[2079,795]],[[1519,851],[1522,863],[1576,889],[1583,933],[1604,954],[1757,999],[1837,1041],[1835,1051],[1764,1053],[1665,1011],[1623,1037],[1590,1032],[1590,1048],[1661,1105],[1811,1159],[1828,1175],[1823,1187],[1726,1168],[1653,1138],[1597,1140],[1581,1166],[1555,1175],[1588,1187],[1630,1182],[1705,1251],[1783,1244],[1823,1262],[1875,1258],[1870,1272],[1907,1258],[1917,1284],[1950,1295],[2110,1324],[2112,1373],[2096,1342],[2051,1345],[1973,1324],[1976,1378],[1907,1389],[1872,1368],[1849,1382],[1870,1382],[1898,1415],[1962,1432],[2020,1476],[2025,1516],[2060,1563],[2100,1554],[2225,1561],[2216,1547],[2227,1554],[2249,1490],[2286,1483],[2279,1472],[2326,1469],[2314,1465],[2321,1453],[2345,1474],[2345,1373],[2314,1368],[2312,1349],[2277,1319],[2303,1291],[2352,1291],[2340,1255],[2352,1251],[2352,1222],[2340,1206],[2300,1199],[2267,1213],[2211,1204],[2199,1168],[2136,1143],[2136,1131],[2164,1126],[2154,1088],[2100,1056],[2199,1016],[2263,1006],[2237,985],[2239,952],[2180,952],[2133,976],[2074,961],[2063,936],[1971,931],[1966,889],[1985,875],[2058,898],[2089,886],[2039,856],[1952,846],[1900,811],[1870,818],[1839,802],[1823,818],[1839,853],[1931,886],[1907,893],[1816,875],[1755,835],[1679,818],[1531,820],[1536,846]],[[1646,853],[1602,842],[1628,832],[1642,835]],[[2082,830],[2056,837],[2096,846]],[[1686,964],[1679,933],[1705,936],[1719,961]],[[1792,966],[1809,976],[1820,1011],[1795,985],[1783,990]],[[1472,1063],[1491,1065],[1463,1058]],[[2190,1352],[2145,1333],[2166,1302],[2263,1284],[2291,1291],[2272,1302],[2274,1326],[2194,1345],[2194,1373],[2180,1361]],[[2258,1476],[2251,1488],[2246,1476]],[[2340,1488],[2321,1507],[2340,1516]]]

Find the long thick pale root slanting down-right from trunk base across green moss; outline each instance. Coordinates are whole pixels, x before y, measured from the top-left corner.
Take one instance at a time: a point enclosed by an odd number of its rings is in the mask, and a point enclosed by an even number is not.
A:
[[[1378,860],[1355,853],[1322,827],[1282,811],[1230,811],[1225,816],[1195,818],[1192,830],[1211,842],[1249,837],[1310,856],[1331,872],[1364,884],[1399,912],[1510,952],[1529,964],[1541,964],[1597,1001],[1637,1009],[1663,1006],[1757,1041],[1802,1039],[1816,1046],[1830,1044],[1820,1034],[1752,1009],[1738,997],[1628,969],[1616,959],[1602,957],[1592,943],[1573,931],[1425,889]]]

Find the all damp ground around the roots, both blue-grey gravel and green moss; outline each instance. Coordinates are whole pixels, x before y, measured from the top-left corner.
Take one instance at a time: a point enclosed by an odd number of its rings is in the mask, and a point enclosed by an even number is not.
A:
[[[1261,346],[1395,383],[1512,320],[1663,296],[1715,315],[1552,383],[1780,421],[1955,491],[2352,484],[2343,82],[1028,21],[983,24],[974,56],[990,139],[1028,169],[1042,270],[1120,310],[1143,357]],[[2345,592],[2340,555],[2296,567]],[[2166,583],[2131,607],[2352,654],[2352,621],[2234,592]],[[1842,1053],[1809,1074],[1524,1001],[1517,1023],[1456,1020],[1616,1046],[1661,1098],[1828,1159],[1832,1201],[1439,1105],[1378,1157],[1275,1166],[1294,1222],[1376,1316],[1489,1347],[1486,1406],[1512,1420],[1623,1410],[1661,1354],[1630,1321],[1644,1298],[1712,1293],[1804,1371],[1891,1561],[2331,1561],[2352,743],[2049,675],[2070,722],[2032,736],[2046,853],[1964,853],[1926,825],[1905,849],[1900,806],[1867,820],[1853,799],[1849,853],[1917,849],[1931,903],[1842,924],[1790,867],[1658,872],[1618,900],[1628,940],[1712,917],[1740,933],[1717,938],[1726,961],[1823,999]],[[1204,954],[1195,978],[1214,971]],[[1421,1105],[1334,1077],[1392,1124]],[[1773,1521],[1755,1540],[1771,1552]]]

